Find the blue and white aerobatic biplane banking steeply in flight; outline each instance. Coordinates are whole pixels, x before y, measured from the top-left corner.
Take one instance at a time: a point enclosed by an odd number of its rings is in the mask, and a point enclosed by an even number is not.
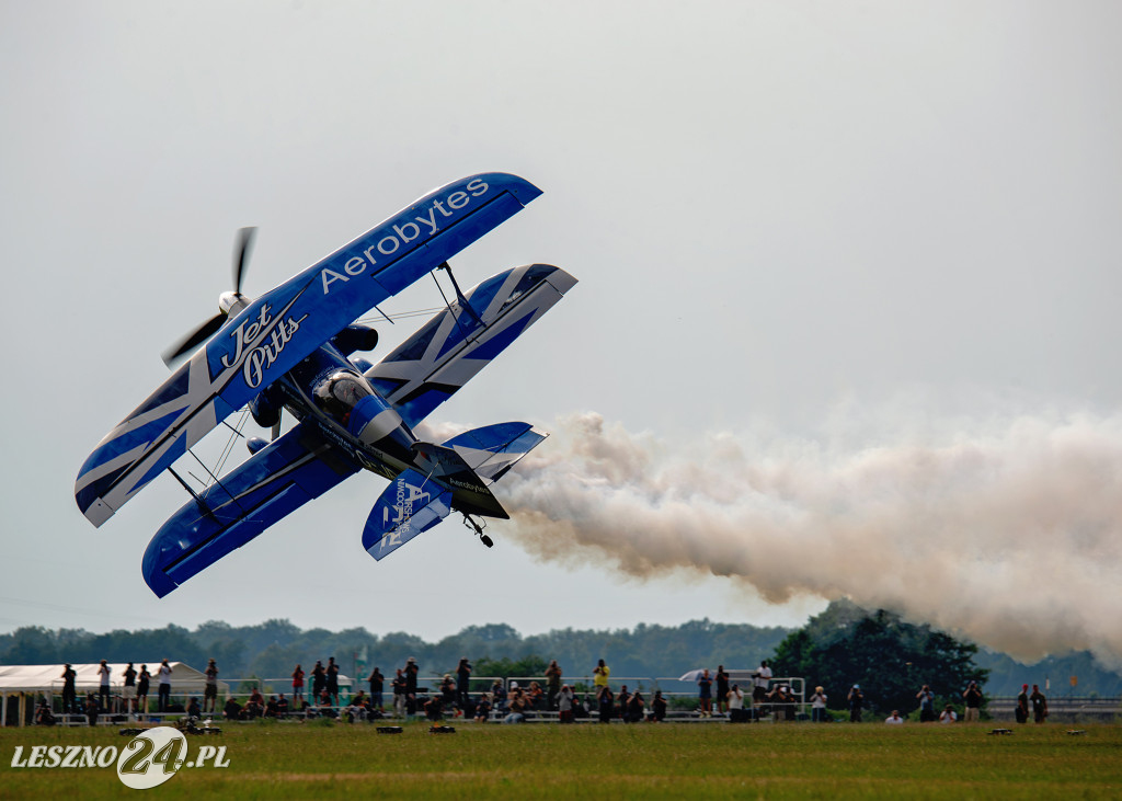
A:
[[[165,360],[205,347],[90,454],[74,488],[79,508],[100,526],[164,471],[183,485],[192,499],[144,554],[145,581],[159,597],[364,468],[390,480],[362,533],[375,559],[453,510],[489,547],[475,518],[507,517],[489,487],[544,434],[499,423],[436,444],[419,441],[413,427],[577,283],[535,264],[463,294],[448,266],[540,194],[502,173],[457,181],[256,300],[240,293],[250,242],[243,230],[233,291]],[[378,339],[356,321],[436,269],[448,271],[456,301],[379,363],[356,357]],[[247,405],[272,440],[249,439],[247,461],[192,488],[176,460]],[[282,411],[297,421],[283,435]]]

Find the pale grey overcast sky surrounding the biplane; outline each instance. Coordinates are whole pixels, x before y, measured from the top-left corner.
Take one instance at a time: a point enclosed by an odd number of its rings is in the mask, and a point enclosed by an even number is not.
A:
[[[714,438],[770,463],[1026,417],[1094,439],[1122,402],[1120,30],[1109,1],[0,0],[0,630],[797,625],[857,595],[636,578],[516,522],[491,551],[449,521],[376,563],[364,475],[157,600],[140,556],[182,489],[95,530],[73,484],[213,313],[239,227],[259,294],[491,171],[544,194],[453,260],[461,285],[531,261],[580,284],[435,422],[595,413],[698,469]]]

